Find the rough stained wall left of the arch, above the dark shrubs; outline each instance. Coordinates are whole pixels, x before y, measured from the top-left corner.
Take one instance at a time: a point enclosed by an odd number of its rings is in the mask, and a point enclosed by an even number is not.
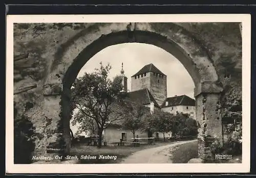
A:
[[[28,58],[14,61],[14,92],[18,89],[37,85],[27,92],[14,95],[17,108],[17,117],[27,115],[35,126],[35,150],[34,155],[46,154],[46,145],[50,137],[58,128],[54,115],[59,115],[61,109],[55,99],[52,106],[45,106],[51,98],[45,98],[42,89],[53,63],[53,56],[70,36],[74,36],[81,28],[90,24],[14,24],[14,56],[28,53]],[[55,96],[57,98],[59,96]],[[59,98],[60,100],[60,98]],[[31,107],[28,106],[31,104]],[[52,116],[47,115],[49,109],[55,111]],[[48,134],[48,136],[47,136]]]

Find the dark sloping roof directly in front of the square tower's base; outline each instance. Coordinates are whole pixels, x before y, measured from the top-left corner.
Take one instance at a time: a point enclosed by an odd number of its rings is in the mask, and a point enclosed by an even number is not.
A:
[[[157,101],[147,88],[129,92],[127,93],[127,97],[131,98],[134,101],[141,101],[143,105],[148,105],[151,102],[154,102],[155,107],[160,108],[160,106],[157,104]]]

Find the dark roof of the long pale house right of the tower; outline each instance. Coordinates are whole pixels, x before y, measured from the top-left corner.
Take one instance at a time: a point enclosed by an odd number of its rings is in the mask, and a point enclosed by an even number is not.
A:
[[[165,106],[166,101],[168,101],[168,105]],[[170,107],[170,106],[195,106],[196,101],[195,99],[192,99],[188,97],[187,95],[181,95],[181,96],[174,96],[174,97],[168,97],[164,100],[163,104],[161,105],[162,108],[164,107]]]

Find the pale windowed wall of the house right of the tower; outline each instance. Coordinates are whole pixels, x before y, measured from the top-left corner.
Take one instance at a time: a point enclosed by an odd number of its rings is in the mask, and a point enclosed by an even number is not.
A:
[[[179,113],[184,113],[184,114],[189,114],[191,118],[196,119],[196,107],[195,106],[170,106],[170,107],[164,107],[161,109],[164,112],[176,114],[177,112]]]

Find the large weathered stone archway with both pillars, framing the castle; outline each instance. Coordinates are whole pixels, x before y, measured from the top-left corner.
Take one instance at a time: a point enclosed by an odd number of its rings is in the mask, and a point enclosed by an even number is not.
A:
[[[101,49],[114,44],[153,44],[175,56],[195,83],[196,118],[200,123],[199,157],[204,159],[208,139],[222,139],[222,87],[208,51],[193,35],[175,23],[93,23],[57,50],[44,85],[45,115],[55,128],[48,134],[47,152],[70,151],[69,96],[79,70]]]

